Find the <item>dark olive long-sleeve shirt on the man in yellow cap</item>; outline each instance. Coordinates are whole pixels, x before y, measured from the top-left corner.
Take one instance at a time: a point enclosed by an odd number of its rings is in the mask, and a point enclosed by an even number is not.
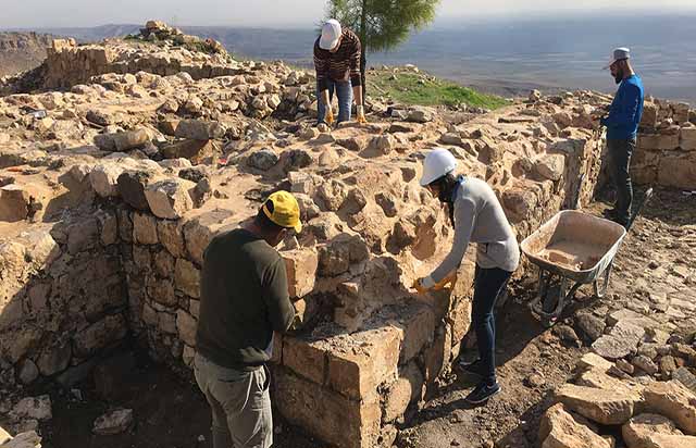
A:
[[[271,358],[273,332],[295,316],[285,262],[246,229],[215,236],[203,256],[196,350],[223,368],[253,370]]]

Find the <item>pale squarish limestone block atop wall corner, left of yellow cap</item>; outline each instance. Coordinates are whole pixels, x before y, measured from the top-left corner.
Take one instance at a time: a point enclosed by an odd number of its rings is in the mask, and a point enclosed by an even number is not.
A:
[[[179,178],[164,179],[149,185],[145,196],[156,216],[177,220],[194,208],[188,191],[195,186],[192,182]]]

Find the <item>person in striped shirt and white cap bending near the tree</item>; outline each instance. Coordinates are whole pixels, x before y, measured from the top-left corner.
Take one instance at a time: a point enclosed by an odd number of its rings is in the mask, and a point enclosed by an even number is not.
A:
[[[322,26],[322,35],[314,42],[318,124],[334,124],[331,104],[334,91],[338,97],[337,123],[350,121],[353,98],[358,123],[366,123],[362,104],[360,52],[358,36],[349,28],[341,28],[338,21],[332,18]]]

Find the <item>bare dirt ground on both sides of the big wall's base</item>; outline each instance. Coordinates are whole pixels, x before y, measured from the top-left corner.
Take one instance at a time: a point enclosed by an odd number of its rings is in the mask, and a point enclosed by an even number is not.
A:
[[[636,192],[638,198],[642,195]],[[588,211],[600,214],[606,208],[606,203],[596,202]],[[693,261],[674,257],[674,249],[684,241],[696,246],[695,223],[696,197],[657,191],[619,251],[607,296],[596,300],[591,297],[591,288],[583,287],[568,315],[580,308],[599,307],[606,300],[626,300],[633,284],[627,279],[644,272],[648,260],[673,260],[688,266]],[[399,448],[539,446],[539,416],[551,400],[551,391],[569,378],[575,361],[588,348],[563,344],[552,329],[546,331],[534,319],[526,302],[536,293],[535,282],[534,273],[530,273],[524,282],[512,285],[510,299],[498,312],[496,361],[502,393],[486,406],[467,405],[463,398],[473,383],[455,368],[439,394],[400,428]],[[471,358],[474,352],[463,356]],[[94,382],[78,388],[82,400],[72,393],[53,394],[52,430],[45,432],[45,447],[211,447],[210,413],[197,387],[144,357],[136,357],[135,371],[117,385],[115,398],[109,401],[101,398]],[[134,428],[119,436],[92,435],[94,420],[110,407],[132,408]],[[275,440],[277,448],[323,447],[298,428],[277,421]]]

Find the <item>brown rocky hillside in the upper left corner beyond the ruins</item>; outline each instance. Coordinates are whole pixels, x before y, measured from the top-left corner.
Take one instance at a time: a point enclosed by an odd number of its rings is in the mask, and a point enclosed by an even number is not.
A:
[[[0,76],[34,69],[46,59],[52,36],[37,33],[0,33]]]

